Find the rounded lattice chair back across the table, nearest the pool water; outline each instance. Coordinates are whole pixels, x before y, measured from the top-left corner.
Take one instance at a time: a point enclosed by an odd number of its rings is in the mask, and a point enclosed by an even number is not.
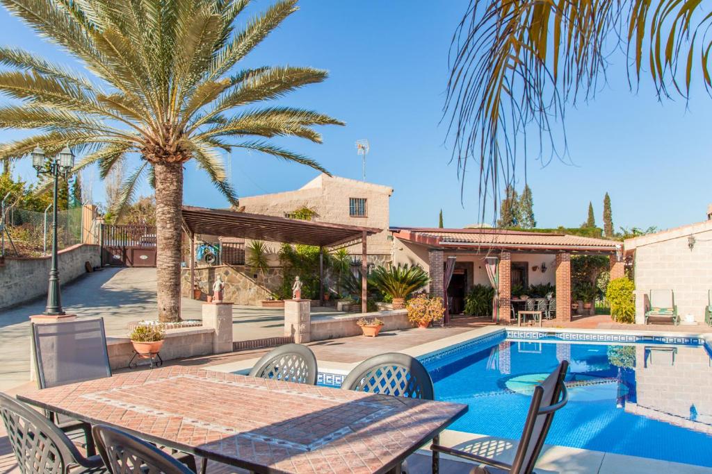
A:
[[[433,381],[422,363],[397,352],[364,360],[349,372],[341,388],[395,397],[434,399]]]

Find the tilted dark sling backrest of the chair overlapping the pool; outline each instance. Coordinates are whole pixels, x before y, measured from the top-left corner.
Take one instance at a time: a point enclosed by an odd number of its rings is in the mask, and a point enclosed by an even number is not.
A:
[[[512,463],[512,474],[530,474],[544,446],[554,413],[568,402],[564,377],[569,362],[564,360],[535,387],[522,437]]]

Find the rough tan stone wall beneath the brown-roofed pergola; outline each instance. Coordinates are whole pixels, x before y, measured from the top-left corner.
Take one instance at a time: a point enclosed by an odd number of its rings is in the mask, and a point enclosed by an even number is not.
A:
[[[255,272],[245,265],[199,266],[195,269],[195,281],[203,290],[203,299],[212,294],[218,275],[225,282],[224,301],[241,305],[258,306],[282,284],[281,267],[271,267],[264,275],[255,277]],[[182,269],[181,279],[182,296],[190,297],[190,269]]]

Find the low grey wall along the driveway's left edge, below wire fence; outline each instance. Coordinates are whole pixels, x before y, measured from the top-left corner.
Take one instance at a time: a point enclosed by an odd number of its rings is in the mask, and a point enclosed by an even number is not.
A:
[[[85,274],[85,262],[100,265],[98,245],[78,244],[58,253],[59,279],[67,284]],[[47,294],[47,279],[51,266],[50,257],[15,258],[5,257],[0,266],[0,308],[31,301]]]

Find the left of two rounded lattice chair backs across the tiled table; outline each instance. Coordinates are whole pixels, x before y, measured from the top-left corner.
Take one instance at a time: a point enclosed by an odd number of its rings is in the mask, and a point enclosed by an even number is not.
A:
[[[286,344],[268,352],[257,361],[250,377],[278,379],[315,385],[318,375],[314,352],[305,345]]]

